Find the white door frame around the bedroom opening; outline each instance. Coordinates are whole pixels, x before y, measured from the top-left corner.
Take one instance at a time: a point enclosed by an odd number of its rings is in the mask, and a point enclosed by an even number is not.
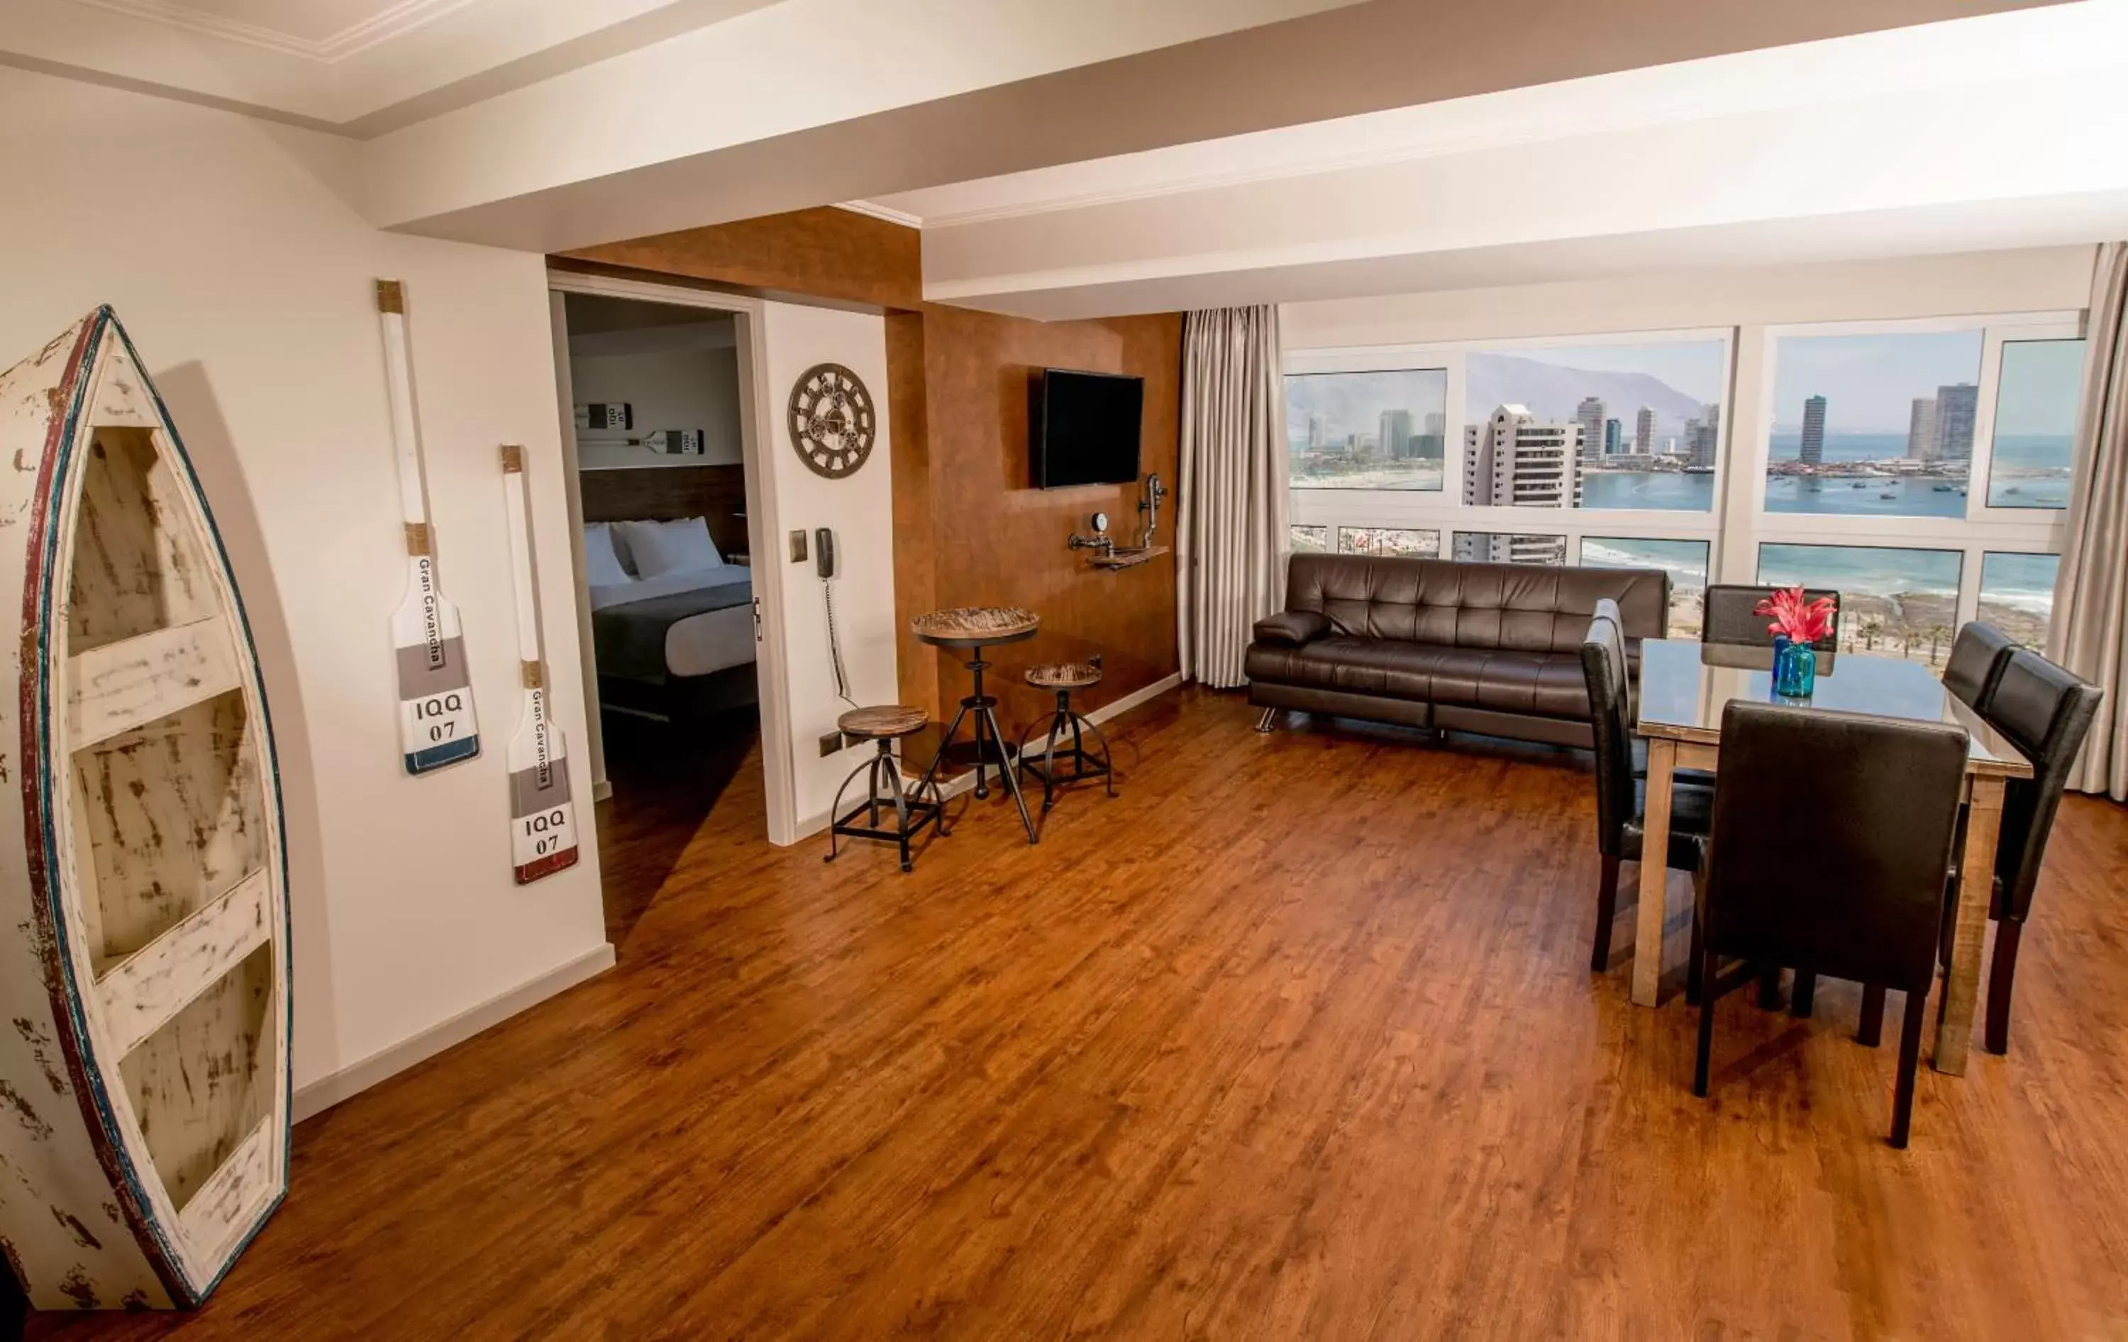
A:
[[[564,489],[568,493],[570,553],[577,561],[577,653],[583,659],[585,717],[592,734],[594,776],[604,783],[604,734],[598,723],[598,664],[592,653],[592,604],[583,581],[583,491],[577,479],[577,415],[568,389],[568,330],[562,321],[562,293],[600,293],[662,302],[683,308],[732,313],[738,334],[738,451],[747,476],[747,551],[753,555],[753,674],[762,700],[762,772],[768,800],[768,842],[798,842],[796,761],[792,759],[792,710],[783,674],[787,661],[783,625],[783,566],[775,561],[777,538],[783,534],[777,491],[770,481],[772,421],[764,415],[768,400],[768,362],[762,349],[762,300],[685,285],[662,285],[609,274],[549,270],[547,289],[555,313],[555,389],[562,417]],[[598,791],[594,787],[594,791]]]

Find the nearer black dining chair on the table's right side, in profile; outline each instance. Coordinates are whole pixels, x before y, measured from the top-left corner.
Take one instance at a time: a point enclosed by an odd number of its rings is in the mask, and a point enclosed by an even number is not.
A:
[[[2062,806],[2062,787],[2092,729],[2100,698],[2096,685],[2030,649],[2013,649],[2002,661],[1981,717],[2032,764],[2032,776],[2011,778],[2002,789],[2002,836],[1996,842],[1988,902],[1996,921],[1996,946],[1988,961],[1988,1053],[2009,1053],[2017,942],[2024,940],[2024,923],[2032,912],[2032,891],[2039,887],[2054,815]]]

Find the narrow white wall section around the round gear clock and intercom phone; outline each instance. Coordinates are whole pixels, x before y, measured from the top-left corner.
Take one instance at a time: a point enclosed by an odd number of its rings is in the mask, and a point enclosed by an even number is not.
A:
[[[828,608],[813,557],[789,561],[789,532],[804,530],[811,553],[813,530],[832,527],[836,538],[836,617],[843,632],[843,664],[858,704],[892,704],[898,698],[894,651],[894,436],[887,423],[887,323],[866,313],[809,308],[783,302],[762,304],[758,355],[766,376],[770,410],[768,485],[775,504],[766,521],[777,534],[764,536],[755,574],[772,574],[781,585],[787,636],[789,740],[796,778],[800,834],[826,823],[828,806],[843,776],[860,761],[855,749],[821,759],[819,738],[834,732],[834,719],[849,704],[834,693],[828,664]],[[792,385],[813,364],[843,364],[872,393],[879,436],[870,459],[851,476],[828,481],[813,474],[792,449],[783,425],[783,402]],[[755,578],[760,581],[760,576]],[[764,723],[768,729],[768,723]],[[870,747],[864,747],[870,749]]]

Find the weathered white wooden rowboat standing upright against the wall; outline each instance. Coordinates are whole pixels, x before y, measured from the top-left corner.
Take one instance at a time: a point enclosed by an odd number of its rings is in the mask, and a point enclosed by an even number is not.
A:
[[[0,374],[0,1248],[38,1308],[189,1308],[287,1189],[272,725],[111,308]]]

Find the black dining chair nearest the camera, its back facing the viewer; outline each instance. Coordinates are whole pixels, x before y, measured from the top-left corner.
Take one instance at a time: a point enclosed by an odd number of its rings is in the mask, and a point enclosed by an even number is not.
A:
[[[1694,1095],[1707,1093],[1722,995],[1764,966],[1890,987],[1907,1000],[1892,1100],[1892,1144],[1907,1144],[1964,774],[1954,723],[1745,700],[1722,710],[1713,825],[1694,872]],[[1722,957],[1743,966],[1717,974]]]

